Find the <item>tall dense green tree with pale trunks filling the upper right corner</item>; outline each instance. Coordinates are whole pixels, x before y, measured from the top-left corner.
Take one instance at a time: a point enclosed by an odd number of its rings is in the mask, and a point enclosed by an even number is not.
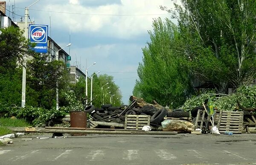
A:
[[[181,0],[176,5],[183,45],[194,78],[211,81],[217,92],[256,78],[256,1]],[[166,9],[162,7],[162,9]],[[175,11],[168,10],[174,13]],[[173,15],[175,17],[175,15]]]

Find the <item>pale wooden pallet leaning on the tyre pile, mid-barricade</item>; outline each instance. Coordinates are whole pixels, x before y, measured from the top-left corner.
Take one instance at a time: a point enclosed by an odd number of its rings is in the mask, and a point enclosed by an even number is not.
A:
[[[148,115],[125,115],[125,129],[141,130],[143,126],[150,124]]]

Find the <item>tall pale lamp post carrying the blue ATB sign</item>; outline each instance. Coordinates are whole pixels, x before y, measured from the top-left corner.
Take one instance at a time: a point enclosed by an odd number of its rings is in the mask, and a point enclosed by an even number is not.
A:
[[[29,17],[29,7],[37,3],[39,0],[36,2],[32,3],[28,7],[25,7],[25,38],[26,40],[29,38],[28,35],[28,17]],[[22,68],[22,93],[21,93],[21,107],[25,107],[26,103],[26,57],[23,62],[23,68]]]

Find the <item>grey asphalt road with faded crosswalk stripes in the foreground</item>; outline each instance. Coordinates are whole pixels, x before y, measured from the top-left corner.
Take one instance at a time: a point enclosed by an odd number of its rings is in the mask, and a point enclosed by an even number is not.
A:
[[[0,146],[0,165],[247,165],[256,164],[255,151],[256,134],[15,138]]]

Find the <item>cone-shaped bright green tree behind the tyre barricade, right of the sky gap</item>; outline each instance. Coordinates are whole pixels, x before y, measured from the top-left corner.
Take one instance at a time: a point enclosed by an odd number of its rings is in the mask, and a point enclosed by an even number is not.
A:
[[[143,48],[143,62],[139,64],[134,95],[145,101],[177,107],[185,101],[184,91],[190,89],[187,68],[183,55],[176,47],[180,44],[177,26],[169,19],[153,21],[153,32],[149,31],[151,42]]]

